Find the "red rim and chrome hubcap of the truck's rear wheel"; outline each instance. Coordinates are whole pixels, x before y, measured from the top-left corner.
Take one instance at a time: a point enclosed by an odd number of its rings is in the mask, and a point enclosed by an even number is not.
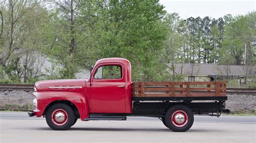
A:
[[[183,127],[187,124],[188,116],[183,110],[177,110],[172,113],[171,116],[172,124],[176,127]]]

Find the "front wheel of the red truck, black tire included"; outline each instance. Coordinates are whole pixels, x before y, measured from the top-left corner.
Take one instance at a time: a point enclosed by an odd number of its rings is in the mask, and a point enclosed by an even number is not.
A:
[[[56,119],[55,117],[57,114],[63,116]],[[58,122],[58,119],[63,119],[63,121]],[[69,105],[64,103],[53,104],[52,106],[50,106],[49,110],[46,113],[46,122],[48,126],[53,130],[67,130],[73,125],[74,120],[74,111]]]

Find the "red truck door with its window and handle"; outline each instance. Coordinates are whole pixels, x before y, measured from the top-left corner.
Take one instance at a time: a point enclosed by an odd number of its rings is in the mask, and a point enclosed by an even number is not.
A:
[[[122,63],[103,63],[93,70],[90,113],[125,113],[125,70]]]

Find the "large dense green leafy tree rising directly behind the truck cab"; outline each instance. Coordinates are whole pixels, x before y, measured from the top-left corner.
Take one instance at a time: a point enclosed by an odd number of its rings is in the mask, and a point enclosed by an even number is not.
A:
[[[161,22],[165,15],[163,5],[158,1],[109,1],[101,7],[97,17],[104,23],[98,25],[104,29],[97,30],[101,42],[99,58],[130,60],[134,81],[164,80],[166,65],[159,63],[166,38]]]

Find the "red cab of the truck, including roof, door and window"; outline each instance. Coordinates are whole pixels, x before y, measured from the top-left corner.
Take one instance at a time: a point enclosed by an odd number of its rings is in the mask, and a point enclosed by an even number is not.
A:
[[[90,113],[132,113],[131,64],[128,60],[97,61],[89,82]]]

